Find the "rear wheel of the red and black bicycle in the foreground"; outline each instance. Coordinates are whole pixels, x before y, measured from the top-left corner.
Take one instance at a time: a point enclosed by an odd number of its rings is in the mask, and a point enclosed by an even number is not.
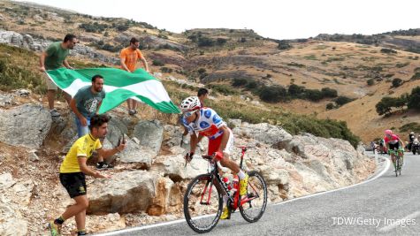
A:
[[[239,209],[242,217],[246,221],[254,223],[263,217],[265,207],[267,206],[267,185],[263,176],[257,171],[248,172],[248,176],[248,194],[246,198],[252,200],[243,203]],[[244,201],[243,198],[242,196],[242,201]]]

